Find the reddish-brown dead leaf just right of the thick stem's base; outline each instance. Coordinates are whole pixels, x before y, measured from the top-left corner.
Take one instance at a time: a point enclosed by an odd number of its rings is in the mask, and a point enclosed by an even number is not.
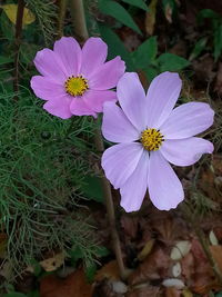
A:
[[[149,279],[165,278],[169,270],[170,257],[161,248],[150,254],[129,278],[132,285],[148,281]]]

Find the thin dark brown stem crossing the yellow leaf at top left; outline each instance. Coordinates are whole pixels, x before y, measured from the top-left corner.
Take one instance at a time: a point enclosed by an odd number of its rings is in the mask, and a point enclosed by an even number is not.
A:
[[[14,81],[13,90],[16,93],[19,91],[19,50],[21,46],[21,33],[22,33],[22,19],[24,12],[24,0],[18,0],[18,10],[17,10],[17,21],[16,21],[16,55],[14,55]],[[14,96],[14,100],[18,100],[18,96]]]

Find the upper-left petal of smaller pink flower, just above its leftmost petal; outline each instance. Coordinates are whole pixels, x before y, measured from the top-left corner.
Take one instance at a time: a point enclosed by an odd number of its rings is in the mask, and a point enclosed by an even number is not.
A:
[[[34,65],[38,71],[59,83],[67,79],[67,71],[60,58],[50,49],[43,49],[37,52]]]

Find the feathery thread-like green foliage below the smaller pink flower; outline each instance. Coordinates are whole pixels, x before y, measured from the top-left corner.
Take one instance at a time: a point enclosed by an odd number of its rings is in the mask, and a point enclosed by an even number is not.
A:
[[[17,273],[54,248],[79,247],[85,264],[92,260],[95,236],[81,215],[90,154],[78,136],[88,139],[93,125],[48,115],[26,89],[16,109],[12,93],[0,93],[0,224]]]

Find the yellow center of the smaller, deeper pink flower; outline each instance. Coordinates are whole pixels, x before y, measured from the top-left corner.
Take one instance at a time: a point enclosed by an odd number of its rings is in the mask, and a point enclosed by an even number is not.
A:
[[[71,96],[82,96],[88,89],[88,80],[82,76],[69,77],[64,82],[65,91]]]

